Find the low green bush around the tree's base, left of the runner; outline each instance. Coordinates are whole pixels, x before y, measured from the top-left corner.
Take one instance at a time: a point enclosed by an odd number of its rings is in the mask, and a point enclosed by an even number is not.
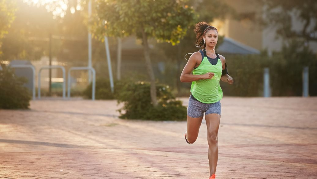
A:
[[[124,103],[119,109],[123,119],[143,119],[155,121],[184,121],[186,120],[186,107],[181,101],[175,100],[169,86],[156,85],[158,106],[154,107],[150,96],[149,82],[126,83],[117,94],[118,103]],[[125,111],[122,114],[122,111]]]

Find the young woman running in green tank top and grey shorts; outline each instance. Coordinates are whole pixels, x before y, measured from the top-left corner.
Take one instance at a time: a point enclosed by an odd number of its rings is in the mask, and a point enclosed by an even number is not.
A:
[[[218,161],[218,129],[221,116],[220,100],[223,97],[219,81],[233,83],[226,68],[226,59],[215,52],[218,31],[206,22],[195,25],[199,50],[191,55],[180,76],[181,82],[191,82],[191,96],[187,108],[187,131],[185,140],[194,143],[197,139],[204,113],[208,131],[209,179],[216,178]],[[191,74],[192,72],[192,74]]]

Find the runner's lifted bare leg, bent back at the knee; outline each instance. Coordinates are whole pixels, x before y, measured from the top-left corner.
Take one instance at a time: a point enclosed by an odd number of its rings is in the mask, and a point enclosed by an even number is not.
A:
[[[189,143],[194,143],[198,137],[199,128],[203,117],[190,117],[187,115],[187,132],[186,137]]]

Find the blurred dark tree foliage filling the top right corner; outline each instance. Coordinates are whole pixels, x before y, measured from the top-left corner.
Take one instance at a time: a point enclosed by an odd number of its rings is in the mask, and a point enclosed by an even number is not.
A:
[[[315,0],[262,0],[265,16],[261,19],[265,27],[275,27],[276,34],[283,39],[301,38],[305,42],[317,42],[317,3]],[[294,28],[294,17],[302,23]]]

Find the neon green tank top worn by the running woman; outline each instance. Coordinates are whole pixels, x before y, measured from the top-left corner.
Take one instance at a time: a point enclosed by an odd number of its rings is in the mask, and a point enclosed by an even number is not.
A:
[[[215,73],[211,79],[201,79],[191,83],[191,94],[202,103],[216,103],[223,97],[219,81],[222,72],[222,63],[217,54],[218,62],[212,65],[204,51],[204,58],[200,65],[193,70],[193,75],[203,75],[208,72]]]

